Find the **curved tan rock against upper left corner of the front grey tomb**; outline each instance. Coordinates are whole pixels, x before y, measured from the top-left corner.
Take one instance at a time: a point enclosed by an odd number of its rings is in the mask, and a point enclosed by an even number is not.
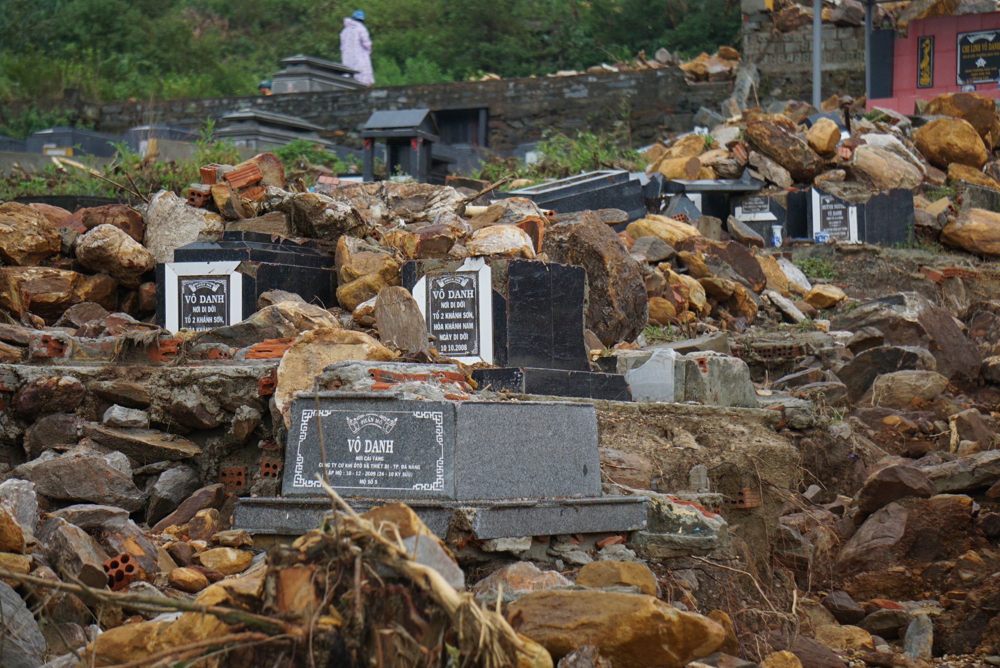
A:
[[[278,364],[274,402],[289,425],[292,399],[312,388],[313,377],[334,362],[369,360],[387,362],[395,354],[363,332],[321,328],[303,332],[292,342]]]

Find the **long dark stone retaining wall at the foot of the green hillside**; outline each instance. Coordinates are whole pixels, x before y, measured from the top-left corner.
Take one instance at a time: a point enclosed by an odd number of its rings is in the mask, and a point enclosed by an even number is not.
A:
[[[304,118],[328,128],[338,143],[360,147],[360,128],[373,111],[486,107],[487,143],[493,149],[537,141],[546,127],[564,132],[610,129],[623,114],[634,143],[642,144],[665,132],[690,130],[698,108],[718,109],[731,89],[728,81],[689,84],[679,69],[651,69],[270,97],[112,102],[92,110],[92,120],[102,132],[145,123],[197,128],[206,118],[219,121],[230,112],[254,108]]]

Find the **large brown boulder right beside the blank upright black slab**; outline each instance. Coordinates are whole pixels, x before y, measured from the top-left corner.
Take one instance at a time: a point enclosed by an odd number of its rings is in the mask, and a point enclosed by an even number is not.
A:
[[[587,329],[602,343],[630,341],[639,335],[649,319],[641,267],[593,212],[573,214],[548,227],[542,251],[554,262],[587,270]]]

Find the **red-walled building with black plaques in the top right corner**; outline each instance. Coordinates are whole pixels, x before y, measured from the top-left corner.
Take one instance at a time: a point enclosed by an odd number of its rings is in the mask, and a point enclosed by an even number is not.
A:
[[[976,91],[1000,98],[1000,12],[910,21],[872,34],[868,108],[914,113],[917,100]]]

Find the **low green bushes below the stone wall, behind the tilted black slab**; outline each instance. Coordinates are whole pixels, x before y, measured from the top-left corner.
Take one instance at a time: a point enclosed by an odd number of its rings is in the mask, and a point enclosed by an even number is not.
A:
[[[479,178],[499,181],[505,176],[532,182],[564,178],[592,169],[642,169],[639,154],[629,148],[628,128],[619,123],[612,132],[581,130],[570,137],[551,128],[542,134],[536,152],[539,161],[527,164],[517,158],[491,156]]]

